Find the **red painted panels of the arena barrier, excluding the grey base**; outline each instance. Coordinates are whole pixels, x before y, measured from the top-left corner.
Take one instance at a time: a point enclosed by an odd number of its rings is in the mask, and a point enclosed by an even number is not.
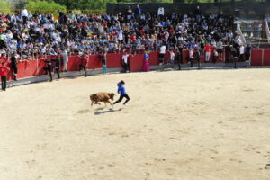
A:
[[[150,52],[149,53],[149,62],[151,66],[158,65],[158,52]],[[130,55],[130,72],[138,72],[142,71],[143,69],[143,54],[137,54],[137,55]],[[224,56],[224,53],[223,53]],[[48,56],[46,58],[52,58],[53,56]],[[117,54],[107,54],[107,67],[108,68],[115,68],[115,67],[122,67],[121,64],[121,53]],[[186,64],[188,57],[188,50],[183,51],[183,63]],[[40,76],[44,74],[43,67],[45,66],[45,63],[43,60],[40,60],[43,57],[37,58],[38,60],[29,60],[29,61],[23,61],[18,63],[18,78],[24,78],[24,77],[30,77],[30,76]],[[96,69],[96,68],[102,68],[102,61],[101,58],[98,55],[91,55],[86,57],[87,64],[86,67],[88,69]],[[169,53],[166,52],[165,55],[165,62],[169,59]],[[2,63],[4,60],[0,59],[0,63]],[[212,53],[211,53],[211,59],[212,62]],[[201,62],[204,62],[204,55],[202,55]],[[223,62],[223,58],[220,59],[218,62]],[[79,68],[81,61],[80,58],[77,56],[71,56],[69,57],[67,67],[68,71],[77,71]],[[270,66],[270,49],[252,49],[251,53],[251,66]],[[10,64],[8,64],[8,67],[10,67]],[[13,72],[9,72],[8,79],[11,80],[13,77]]]

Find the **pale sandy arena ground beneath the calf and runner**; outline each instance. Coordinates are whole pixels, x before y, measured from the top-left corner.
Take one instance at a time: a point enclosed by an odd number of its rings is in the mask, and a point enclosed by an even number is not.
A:
[[[128,106],[91,109],[121,79]],[[270,179],[269,69],[23,85],[0,92],[0,120],[1,180]]]

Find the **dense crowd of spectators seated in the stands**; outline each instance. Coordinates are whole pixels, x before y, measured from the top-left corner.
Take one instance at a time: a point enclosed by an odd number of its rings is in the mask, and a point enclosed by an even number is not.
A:
[[[139,5],[119,14],[0,14],[0,54],[10,57],[58,55],[68,53],[96,54],[130,50],[236,48],[242,42],[233,31],[233,17],[202,14],[198,6],[193,14],[166,14],[163,7],[156,14]]]

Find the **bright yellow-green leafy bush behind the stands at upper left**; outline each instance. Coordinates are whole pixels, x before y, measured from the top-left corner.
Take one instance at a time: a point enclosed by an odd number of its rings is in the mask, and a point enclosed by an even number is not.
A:
[[[40,1],[40,0],[30,0],[25,5],[25,8],[31,12],[41,12],[49,14],[58,14],[58,10],[66,11],[65,5],[60,5],[52,0]]]

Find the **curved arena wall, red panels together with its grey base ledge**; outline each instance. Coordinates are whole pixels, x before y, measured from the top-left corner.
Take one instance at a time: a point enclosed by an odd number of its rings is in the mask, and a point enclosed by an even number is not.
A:
[[[109,72],[121,72],[122,71],[122,64],[121,64],[121,53],[117,54],[108,54],[107,55],[107,67]],[[150,69],[157,69],[159,68],[158,65],[158,52],[151,52],[149,54],[150,56]],[[50,56],[51,57],[51,56]],[[182,67],[189,67],[188,62],[186,58],[188,57],[188,51],[184,50],[183,52],[183,64]],[[40,56],[36,58],[35,60],[28,60],[28,61],[22,61],[18,64],[18,79],[19,82],[11,81],[13,77],[13,73],[9,72],[8,74],[8,80],[9,85],[21,85],[23,81],[23,84],[29,84],[33,82],[40,82],[44,80],[48,80],[48,76],[45,76],[45,72],[43,70],[43,67],[45,67],[45,63],[42,59],[49,58]],[[89,75],[94,74],[101,74],[103,67],[101,59],[97,55],[88,56],[87,58],[87,69]],[[169,52],[166,52],[165,56],[165,62],[167,62],[169,58]],[[130,55],[130,72],[140,72],[143,69],[143,54],[136,54],[136,55]],[[0,60],[0,63],[3,60]],[[224,63],[224,58],[219,60],[216,64],[212,64],[212,59],[210,59],[210,63],[205,64],[204,58],[201,58],[202,67],[232,67],[234,66],[233,63]],[[68,73],[64,73],[61,76],[83,76],[84,73],[78,72],[79,70],[79,64],[80,60],[78,56],[70,56],[68,63],[67,63],[67,70]],[[238,62],[238,66],[247,67],[249,66],[249,63],[246,62]],[[270,49],[252,49],[251,53],[251,66],[260,67],[260,66],[270,66]],[[194,64],[194,67],[197,65]],[[8,62],[8,67],[10,67],[10,64]],[[175,66],[176,67],[176,66]],[[32,78],[34,77],[34,78]],[[24,80],[23,80],[24,79]]]

